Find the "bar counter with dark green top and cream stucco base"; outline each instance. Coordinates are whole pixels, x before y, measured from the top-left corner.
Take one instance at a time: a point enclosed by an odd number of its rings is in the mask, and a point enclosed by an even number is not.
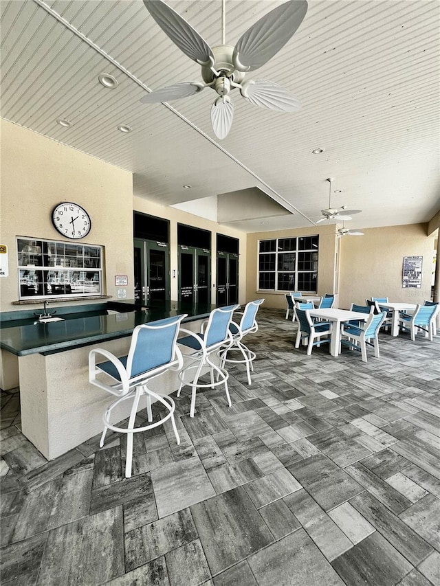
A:
[[[96,436],[111,397],[89,383],[89,351],[105,348],[122,356],[129,350],[135,326],[182,313],[188,314],[184,327],[197,332],[214,307],[171,301],[141,310],[127,303],[119,304],[119,310],[129,311],[113,313],[109,303],[89,306],[86,312],[60,308],[54,317],[63,321],[46,323],[38,323],[33,312],[23,314],[19,322],[3,315],[7,319],[2,319],[0,346],[2,352],[18,357],[23,434],[47,460]],[[178,386],[176,372],[151,381],[151,389],[159,394],[170,394]],[[127,409],[122,405],[115,422],[128,416]]]

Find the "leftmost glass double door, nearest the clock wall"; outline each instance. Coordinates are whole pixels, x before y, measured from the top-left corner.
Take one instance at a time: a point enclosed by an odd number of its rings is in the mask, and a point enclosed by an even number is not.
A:
[[[169,259],[167,244],[135,238],[135,300],[148,304],[170,298]]]

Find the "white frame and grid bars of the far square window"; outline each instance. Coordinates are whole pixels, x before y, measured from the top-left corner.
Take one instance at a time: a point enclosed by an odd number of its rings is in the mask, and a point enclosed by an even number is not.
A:
[[[303,238],[310,238],[310,248],[300,247],[300,240]],[[316,247],[314,247],[314,239],[316,238]],[[294,248],[285,249],[284,243],[287,241],[294,241]],[[266,250],[261,251],[262,243],[266,243],[263,247]],[[304,260],[300,261],[300,255],[302,253],[316,253],[316,260],[311,258],[309,262],[314,263],[316,262],[316,269],[299,269],[298,264],[300,262],[304,262]],[[282,269],[280,268],[281,258],[283,254],[294,254],[294,269]],[[272,256],[272,259],[270,258]],[[262,262],[264,262],[264,257],[266,257],[266,264],[274,265],[274,269],[261,269]],[[269,262],[267,262],[269,261]],[[285,237],[285,238],[261,238],[258,240],[258,248],[257,248],[257,259],[256,259],[256,288],[257,291],[267,291],[273,293],[289,293],[289,291],[305,291],[307,293],[316,293],[318,291],[318,267],[319,267],[319,235],[313,234],[311,236],[293,236],[293,237]],[[274,288],[270,287],[267,288],[265,286],[260,286],[261,284],[261,275],[266,275],[267,280],[265,284],[272,284],[274,283]],[[294,277],[294,285],[292,289],[282,289],[280,285],[280,275],[293,275]],[[298,277],[299,275],[304,274],[316,274],[316,287],[315,289],[299,289],[298,288]],[[285,284],[285,282],[283,283]]]

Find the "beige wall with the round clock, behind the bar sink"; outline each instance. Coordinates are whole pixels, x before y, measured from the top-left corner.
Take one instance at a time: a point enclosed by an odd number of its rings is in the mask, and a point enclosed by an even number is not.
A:
[[[16,237],[68,241],[56,232],[51,220],[52,208],[61,201],[78,203],[91,216],[91,232],[81,243],[104,246],[104,294],[116,297],[115,275],[128,275],[127,298],[132,298],[131,173],[10,122],[1,120],[0,128],[0,243],[9,252],[9,277],[0,278],[0,311],[29,309],[28,305],[12,305],[19,299]]]

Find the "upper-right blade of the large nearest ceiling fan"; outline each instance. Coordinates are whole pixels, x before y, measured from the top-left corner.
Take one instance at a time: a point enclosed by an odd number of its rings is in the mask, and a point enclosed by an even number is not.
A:
[[[236,43],[234,67],[251,71],[267,63],[289,41],[306,12],[307,1],[290,0],[265,14]]]

